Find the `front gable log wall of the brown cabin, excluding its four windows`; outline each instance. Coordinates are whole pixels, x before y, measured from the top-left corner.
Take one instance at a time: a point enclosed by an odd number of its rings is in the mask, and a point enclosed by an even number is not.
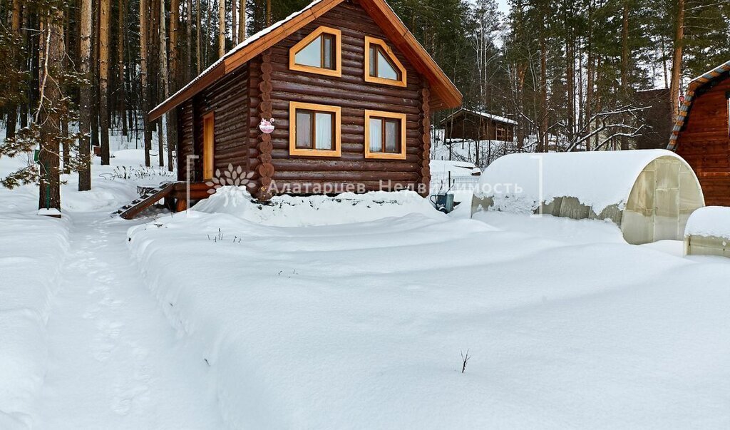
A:
[[[342,31],[342,77],[296,72],[288,68],[289,48],[319,26]],[[423,113],[419,93],[423,85],[422,78],[406,58],[393,48],[399,61],[407,69],[407,87],[365,82],[366,35],[389,42],[383,31],[361,7],[343,3],[272,47],[272,114],[276,126],[272,134],[272,164],[273,179],[277,187],[354,183],[374,190],[379,189],[380,180],[408,185],[420,182],[420,163],[424,156],[423,134],[419,123]],[[342,156],[290,156],[290,101],[342,107]],[[405,160],[365,158],[365,110],[407,115]],[[253,103],[251,112],[254,112]],[[259,133],[254,129],[254,123],[258,123],[258,118],[254,120],[252,116],[252,139],[258,141]]]

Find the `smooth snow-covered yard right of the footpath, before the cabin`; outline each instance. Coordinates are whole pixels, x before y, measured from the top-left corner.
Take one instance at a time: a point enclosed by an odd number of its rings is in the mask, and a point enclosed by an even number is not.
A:
[[[231,428],[730,426],[729,261],[591,220],[212,206],[129,246]]]

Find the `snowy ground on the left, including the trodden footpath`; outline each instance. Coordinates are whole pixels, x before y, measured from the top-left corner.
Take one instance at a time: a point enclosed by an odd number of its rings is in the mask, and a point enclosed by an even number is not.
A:
[[[0,187],[2,430],[223,426],[207,364],[129,256],[126,231],[141,221],[110,217],[137,196],[134,179],[114,174],[142,160],[126,155],[95,160],[91,191],[63,175],[61,219],[37,215],[37,186]],[[23,158],[0,158],[0,174]]]

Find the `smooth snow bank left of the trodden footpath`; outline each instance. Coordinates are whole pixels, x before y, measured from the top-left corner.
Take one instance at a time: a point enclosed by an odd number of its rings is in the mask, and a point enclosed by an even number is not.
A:
[[[68,247],[67,223],[0,212],[0,238],[0,428],[29,429],[46,372],[45,324]]]

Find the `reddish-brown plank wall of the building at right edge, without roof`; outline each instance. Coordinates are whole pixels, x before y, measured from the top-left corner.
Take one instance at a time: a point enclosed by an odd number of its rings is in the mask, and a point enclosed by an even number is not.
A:
[[[730,206],[728,91],[730,78],[707,91],[698,89],[685,128],[677,139],[677,154],[687,160],[699,177],[707,205]]]

